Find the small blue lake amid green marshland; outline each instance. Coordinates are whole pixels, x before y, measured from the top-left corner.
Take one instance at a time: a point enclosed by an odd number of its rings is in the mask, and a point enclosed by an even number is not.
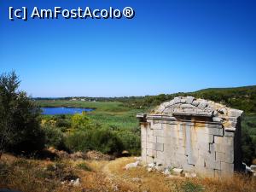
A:
[[[41,108],[43,110],[43,114],[74,114],[74,113],[82,113],[83,111],[89,112],[94,109],[91,108]]]

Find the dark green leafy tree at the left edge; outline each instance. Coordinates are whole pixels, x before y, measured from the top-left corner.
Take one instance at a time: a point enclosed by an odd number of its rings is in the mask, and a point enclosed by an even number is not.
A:
[[[0,75],[0,158],[3,150],[32,152],[44,148],[40,109],[19,91],[15,72]]]

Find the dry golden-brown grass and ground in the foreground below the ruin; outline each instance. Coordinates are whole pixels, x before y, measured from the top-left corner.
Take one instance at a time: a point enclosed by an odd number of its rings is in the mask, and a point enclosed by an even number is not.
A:
[[[167,177],[160,172],[148,172],[138,166],[125,170],[134,162],[132,157],[117,160],[27,160],[4,154],[0,167],[0,189],[23,192],[41,191],[209,191],[254,192],[255,178],[236,175],[231,178]],[[58,165],[60,169],[50,167]],[[61,165],[61,166],[60,166]],[[80,166],[82,165],[82,166]],[[83,168],[85,167],[85,169]],[[79,177],[79,187],[61,181]]]

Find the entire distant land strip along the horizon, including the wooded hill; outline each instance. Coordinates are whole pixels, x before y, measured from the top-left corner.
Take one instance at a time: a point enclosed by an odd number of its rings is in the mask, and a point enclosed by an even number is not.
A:
[[[256,85],[235,88],[208,88],[194,92],[160,94],[158,96],[123,96],[123,97],[61,97],[33,98],[34,100],[73,100],[83,102],[123,102],[126,107],[143,108],[159,105],[172,100],[175,96],[195,96],[214,102],[221,102],[230,108],[238,108],[247,113],[256,113]]]

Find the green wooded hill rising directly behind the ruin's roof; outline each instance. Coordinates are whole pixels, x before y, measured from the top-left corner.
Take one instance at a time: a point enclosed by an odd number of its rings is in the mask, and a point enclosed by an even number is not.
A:
[[[175,96],[195,96],[202,99],[221,102],[230,108],[238,108],[247,113],[256,113],[256,85],[235,88],[209,88],[195,92],[160,94],[159,96],[127,97],[127,104],[151,107],[172,100]]]

